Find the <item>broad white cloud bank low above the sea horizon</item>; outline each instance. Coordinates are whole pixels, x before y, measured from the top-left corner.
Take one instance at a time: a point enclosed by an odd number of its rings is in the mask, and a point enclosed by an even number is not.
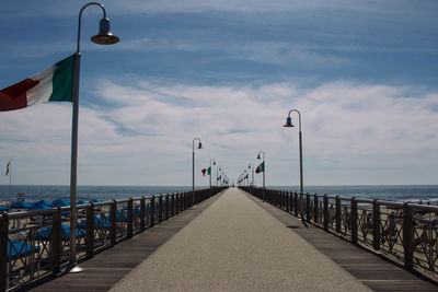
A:
[[[141,80],[100,81],[96,89],[115,106],[80,110],[79,184],[189,185],[194,137],[205,145],[197,168],[214,157],[238,177],[265,150],[268,184],[298,184],[298,128],[281,127],[291,108],[302,113],[307,184],[435,183],[435,92],[406,96],[408,89],[346,81],[311,90]],[[0,154],[18,162],[18,183],[68,184],[70,119],[66,104],[0,116]]]

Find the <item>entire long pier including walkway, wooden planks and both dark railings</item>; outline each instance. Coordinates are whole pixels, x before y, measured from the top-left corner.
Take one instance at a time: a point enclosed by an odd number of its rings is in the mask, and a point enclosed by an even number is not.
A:
[[[70,227],[61,212],[69,207],[3,213],[0,238],[9,240],[0,244],[1,284],[31,291],[438,289],[436,217],[424,217],[437,207],[304,194],[303,225],[299,196],[242,186],[196,190],[197,208],[189,208],[192,191],[79,206],[77,259],[85,278],[64,273]],[[4,227],[46,213],[53,224],[26,229],[22,237]]]

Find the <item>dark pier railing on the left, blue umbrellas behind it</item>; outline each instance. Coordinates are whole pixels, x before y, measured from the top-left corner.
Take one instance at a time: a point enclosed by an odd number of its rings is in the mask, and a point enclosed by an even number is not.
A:
[[[224,187],[195,191],[195,203]],[[192,207],[192,191],[78,205],[77,259],[130,238]],[[70,207],[0,213],[0,291],[19,290],[69,264]]]

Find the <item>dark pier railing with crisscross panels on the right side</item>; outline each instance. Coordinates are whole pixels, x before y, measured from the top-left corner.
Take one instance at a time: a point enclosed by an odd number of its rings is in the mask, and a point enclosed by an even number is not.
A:
[[[253,196],[300,215],[300,194],[241,187]],[[407,270],[438,277],[438,207],[410,202],[303,194],[303,218],[355,245],[401,262]]]

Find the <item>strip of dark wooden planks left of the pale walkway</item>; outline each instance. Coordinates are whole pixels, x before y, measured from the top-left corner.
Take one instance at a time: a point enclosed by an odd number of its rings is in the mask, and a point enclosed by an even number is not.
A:
[[[107,291],[203,212],[223,192],[81,262],[80,267],[84,269],[83,272],[67,273],[37,287],[28,287],[26,290],[35,292]]]

